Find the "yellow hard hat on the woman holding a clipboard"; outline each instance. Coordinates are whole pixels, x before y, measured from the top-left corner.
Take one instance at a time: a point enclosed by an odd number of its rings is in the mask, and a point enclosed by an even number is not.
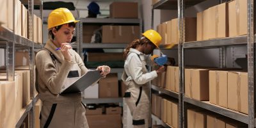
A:
[[[49,14],[48,29],[70,22],[79,22],[79,20],[76,20],[67,8],[57,8]]]

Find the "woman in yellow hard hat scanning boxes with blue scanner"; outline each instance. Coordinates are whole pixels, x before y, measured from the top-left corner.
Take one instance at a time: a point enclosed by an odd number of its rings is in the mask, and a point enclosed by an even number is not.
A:
[[[150,124],[149,82],[164,72],[165,68],[162,66],[148,72],[146,66],[152,63],[150,54],[158,48],[161,39],[159,33],[150,29],[142,34],[140,40],[134,40],[125,48],[122,81],[127,85],[124,97],[131,110],[134,128],[148,128]]]

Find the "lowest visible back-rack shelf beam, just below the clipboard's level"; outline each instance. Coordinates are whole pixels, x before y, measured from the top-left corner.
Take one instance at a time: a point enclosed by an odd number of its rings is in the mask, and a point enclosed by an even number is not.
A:
[[[104,104],[123,102],[123,98],[99,98],[99,99],[83,99],[84,104]]]

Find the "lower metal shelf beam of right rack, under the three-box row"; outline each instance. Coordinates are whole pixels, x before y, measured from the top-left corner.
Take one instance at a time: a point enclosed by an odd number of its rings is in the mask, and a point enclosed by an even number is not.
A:
[[[238,120],[240,122],[248,124],[248,115],[244,115],[243,113],[239,113],[239,112],[227,109],[227,108],[223,108],[220,106],[216,106],[214,104],[210,104],[209,101],[198,101],[198,100],[194,100],[194,99],[184,96],[184,102],[188,102],[189,104],[193,104],[200,108],[204,108],[204,109],[213,111],[214,113],[218,113],[220,115],[227,116],[229,118],[233,118],[234,120]]]

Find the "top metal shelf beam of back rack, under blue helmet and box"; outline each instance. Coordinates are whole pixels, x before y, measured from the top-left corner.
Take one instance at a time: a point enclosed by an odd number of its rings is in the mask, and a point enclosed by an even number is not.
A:
[[[80,22],[93,24],[140,24],[140,19],[100,19],[82,18]]]

